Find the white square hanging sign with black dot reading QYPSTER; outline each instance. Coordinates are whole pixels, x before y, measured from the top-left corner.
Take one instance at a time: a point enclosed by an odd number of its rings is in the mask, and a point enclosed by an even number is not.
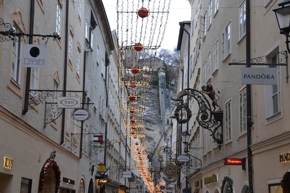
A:
[[[22,47],[21,66],[44,68],[47,65],[47,46],[24,44]]]

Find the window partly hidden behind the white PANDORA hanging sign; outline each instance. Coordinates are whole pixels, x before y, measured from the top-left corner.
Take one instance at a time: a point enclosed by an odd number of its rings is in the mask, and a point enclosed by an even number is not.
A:
[[[276,51],[276,50],[275,50]],[[269,63],[278,63],[278,55],[274,54],[271,57],[266,57]],[[281,66],[272,66],[277,68],[277,85],[265,85],[265,99],[266,99],[266,118],[272,117],[281,112]]]

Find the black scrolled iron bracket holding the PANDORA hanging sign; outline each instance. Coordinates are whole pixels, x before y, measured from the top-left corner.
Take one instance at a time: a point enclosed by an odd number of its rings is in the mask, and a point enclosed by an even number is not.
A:
[[[271,57],[271,56],[275,56],[278,54],[278,63],[268,63],[268,60],[264,60],[263,58],[266,57]],[[250,60],[243,60],[240,62],[236,62],[235,59],[232,60],[231,63],[229,63],[229,65],[255,65],[255,66],[270,66],[270,68],[272,66],[286,66],[286,82],[288,82],[288,54],[287,51],[282,51],[282,52],[277,52],[277,53],[272,53],[269,54],[267,56],[260,56],[257,58],[252,58]]]

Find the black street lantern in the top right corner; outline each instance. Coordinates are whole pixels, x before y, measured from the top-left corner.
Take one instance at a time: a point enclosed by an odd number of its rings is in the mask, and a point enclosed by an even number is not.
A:
[[[278,7],[273,9],[276,14],[276,18],[280,28],[280,34],[284,34],[286,36],[286,46],[287,50],[290,53],[289,49],[289,40],[290,37],[290,0],[282,1],[278,4]]]

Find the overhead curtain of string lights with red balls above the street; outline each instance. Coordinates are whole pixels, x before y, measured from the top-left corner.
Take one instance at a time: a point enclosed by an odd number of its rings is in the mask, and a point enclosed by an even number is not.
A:
[[[169,5],[170,0],[117,1],[119,110],[137,170],[150,192],[154,191],[154,184],[148,171],[144,114]]]

